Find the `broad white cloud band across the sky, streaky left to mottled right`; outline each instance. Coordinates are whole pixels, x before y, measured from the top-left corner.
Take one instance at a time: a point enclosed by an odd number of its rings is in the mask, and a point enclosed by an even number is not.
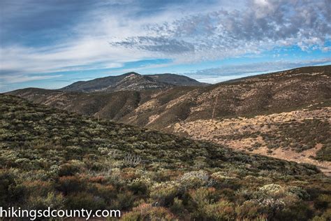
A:
[[[9,76],[1,79],[121,67],[140,59],[200,62],[284,45],[330,51],[324,45],[331,35],[328,0],[197,1],[147,9],[136,1],[102,1],[71,27],[65,41],[1,45],[0,76]]]

